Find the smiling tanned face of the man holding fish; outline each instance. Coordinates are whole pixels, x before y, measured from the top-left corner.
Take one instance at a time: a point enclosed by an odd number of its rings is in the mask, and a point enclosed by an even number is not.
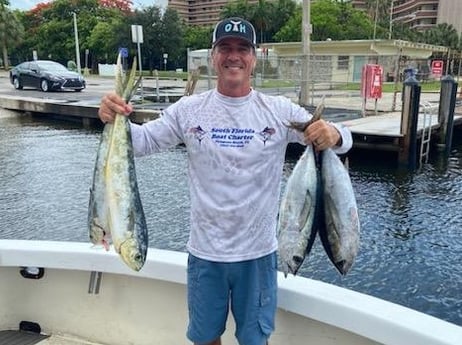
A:
[[[220,92],[237,88],[248,92],[256,60],[254,48],[244,40],[226,38],[219,42],[212,51],[212,62]]]

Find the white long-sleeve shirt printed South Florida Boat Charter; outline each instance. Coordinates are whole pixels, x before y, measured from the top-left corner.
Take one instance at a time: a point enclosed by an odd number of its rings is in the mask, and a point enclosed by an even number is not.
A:
[[[135,154],[184,143],[188,152],[191,224],[188,251],[200,258],[236,262],[277,249],[280,182],[288,143],[303,135],[291,121],[311,115],[285,97],[252,90],[226,97],[216,89],[183,97],[159,119],[132,124]],[[350,131],[333,124],[345,153]]]

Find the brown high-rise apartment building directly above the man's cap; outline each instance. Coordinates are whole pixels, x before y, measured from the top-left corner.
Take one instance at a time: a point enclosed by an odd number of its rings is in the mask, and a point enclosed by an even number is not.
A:
[[[210,26],[220,19],[221,10],[229,0],[168,0],[168,7],[178,11],[187,24]],[[249,4],[258,0],[249,0]]]

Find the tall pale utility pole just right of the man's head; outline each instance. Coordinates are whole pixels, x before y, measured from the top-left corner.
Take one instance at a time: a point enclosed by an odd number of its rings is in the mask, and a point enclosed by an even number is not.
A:
[[[309,75],[310,75],[310,0],[303,0],[302,13],[302,80],[300,81],[300,98],[298,103],[301,106],[309,104]]]

